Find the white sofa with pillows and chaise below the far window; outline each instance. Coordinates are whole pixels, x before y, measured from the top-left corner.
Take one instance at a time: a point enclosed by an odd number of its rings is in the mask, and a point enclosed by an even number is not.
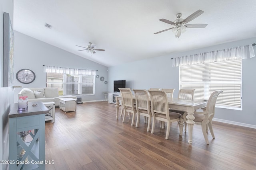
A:
[[[55,106],[60,106],[60,98],[73,98],[72,95],[60,95],[58,88],[22,88],[18,93],[18,99],[20,96],[28,96],[28,102],[55,102]]]

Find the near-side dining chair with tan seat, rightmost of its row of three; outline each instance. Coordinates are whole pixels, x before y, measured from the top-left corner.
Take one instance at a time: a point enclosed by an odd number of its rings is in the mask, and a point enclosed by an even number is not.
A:
[[[162,91],[148,91],[150,93],[151,100],[151,113],[152,113],[152,129],[151,133],[154,134],[154,128],[156,120],[164,121],[167,123],[166,136],[168,139],[170,133],[171,122],[180,121],[180,136],[182,136],[183,130],[183,118],[180,113],[169,111],[168,99],[166,93]]]

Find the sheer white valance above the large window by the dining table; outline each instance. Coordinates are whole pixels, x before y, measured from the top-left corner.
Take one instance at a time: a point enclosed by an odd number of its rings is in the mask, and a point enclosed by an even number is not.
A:
[[[216,61],[227,61],[236,59],[250,59],[255,57],[252,44],[228,48],[223,50],[211,51],[206,53],[186,55],[172,60],[172,66],[184,66],[192,64],[213,63]]]

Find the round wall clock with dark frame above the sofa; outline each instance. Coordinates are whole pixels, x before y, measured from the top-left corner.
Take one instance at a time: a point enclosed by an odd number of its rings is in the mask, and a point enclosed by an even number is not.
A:
[[[28,84],[34,82],[36,74],[29,69],[21,69],[17,72],[16,78],[19,82],[23,84]]]

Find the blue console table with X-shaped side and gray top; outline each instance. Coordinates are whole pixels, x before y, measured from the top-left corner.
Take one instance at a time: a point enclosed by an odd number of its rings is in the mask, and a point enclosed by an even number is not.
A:
[[[42,102],[28,102],[28,110],[18,111],[14,104],[9,113],[10,170],[45,170],[45,114],[49,110]],[[20,132],[27,132],[22,140]],[[19,155],[19,157],[18,157]],[[21,156],[20,156],[21,155]],[[18,160],[18,164],[17,163]]]

